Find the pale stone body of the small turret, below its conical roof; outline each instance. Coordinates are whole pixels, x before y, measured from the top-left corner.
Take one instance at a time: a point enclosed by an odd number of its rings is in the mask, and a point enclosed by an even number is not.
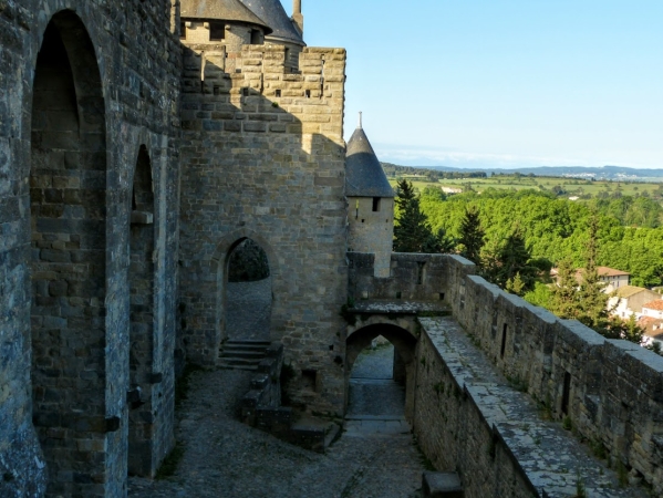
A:
[[[390,276],[394,240],[394,199],[383,197],[376,210],[372,197],[348,198],[348,249],[375,255],[375,277]]]

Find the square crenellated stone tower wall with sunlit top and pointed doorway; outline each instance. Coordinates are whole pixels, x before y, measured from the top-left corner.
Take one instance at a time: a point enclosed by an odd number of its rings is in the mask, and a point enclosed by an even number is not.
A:
[[[225,339],[227,258],[251,238],[272,276],[272,340],[298,373],[291,397],[341,412],[345,302],[345,51],[185,49],[182,301],[190,361],[214,364]],[[201,80],[201,74],[204,80]]]

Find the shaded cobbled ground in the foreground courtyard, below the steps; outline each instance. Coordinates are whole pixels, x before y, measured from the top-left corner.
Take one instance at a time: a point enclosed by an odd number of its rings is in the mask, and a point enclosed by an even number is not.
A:
[[[415,498],[422,471],[407,426],[349,427],[325,455],[282,443],[236,419],[250,373],[195,373],[177,412],[185,453],[173,477],[132,477],[134,498]],[[351,423],[352,421],[349,421]]]

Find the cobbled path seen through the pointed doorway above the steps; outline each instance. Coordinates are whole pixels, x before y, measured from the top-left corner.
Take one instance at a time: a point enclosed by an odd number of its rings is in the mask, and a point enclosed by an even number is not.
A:
[[[228,282],[226,330],[231,340],[269,340],[271,278],[257,282]]]

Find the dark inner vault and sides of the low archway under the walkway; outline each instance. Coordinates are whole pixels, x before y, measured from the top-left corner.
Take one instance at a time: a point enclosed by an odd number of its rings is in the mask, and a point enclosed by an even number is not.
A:
[[[372,317],[367,323],[352,329],[345,341],[345,409],[348,409],[350,377],[354,363],[362,351],[371,346],[373,340],[382,336],[394,347],[394,382],[398,381],[397,367],[403,370],[401,380],[405,385],[404,415],[411,421],[414,405],[416,336],[391,320],[377,317]]]

